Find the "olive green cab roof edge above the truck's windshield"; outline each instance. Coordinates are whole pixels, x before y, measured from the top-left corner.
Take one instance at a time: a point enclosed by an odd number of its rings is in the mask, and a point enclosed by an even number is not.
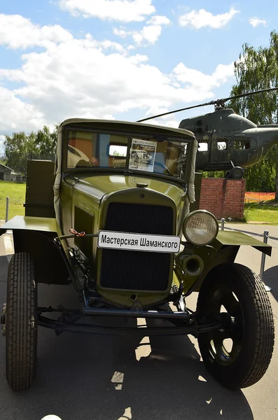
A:
[[[132,131],[132,129],[139,129],[142,132],[148,133],[160,133],[166,134],[168,136],[186,136],[190,139],[195,139],[193,132],[185,130],[183,128],[172,128],[166,127],[165,125],[153,125],[153,124],[144,124],[144,123],[133,123],[130,121],[119,121],[119,120],[91,120],[86,118],[69,118],[68,120],[64,120],[60,127],[64,127],[65,125],[90,125],[92,128],[101,129],[104,128],[107,130],[107,126],[113,130],[120,130],[120,131]]]

